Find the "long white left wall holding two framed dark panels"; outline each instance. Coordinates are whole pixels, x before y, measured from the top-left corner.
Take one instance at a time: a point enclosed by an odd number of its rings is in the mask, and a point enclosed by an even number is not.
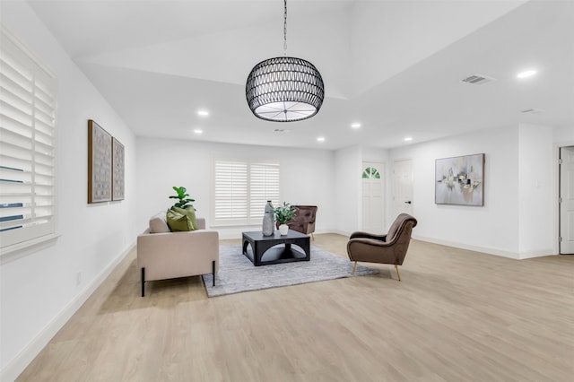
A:
[[[1,21],[57,75],[57,221],[61,236],[2,257],[0,379],[12,380],[135,243],[135,136],[22,1]],[[126,148],[126,200],[87,204],[88,119]],[[78,275],[79,273],[79,275]],[[79,281],[79,282],[78,282]]]

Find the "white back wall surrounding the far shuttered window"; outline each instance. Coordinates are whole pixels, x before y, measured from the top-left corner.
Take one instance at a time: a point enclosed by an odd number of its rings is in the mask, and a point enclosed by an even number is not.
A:
[[[217,158],[278,160],[282,171],[282,201],[317,205],[317,232],[333,231],[335,212],[334,153],[324,150],[288,149],[226,143],[202,143],[157,138],[137,138],[137,228],[144,230],[149,217],[173,204],[171,187],[183,186],[196,199],[197,216],[208,228],[212,218],[213,160]],[[263,210],[265,206],[262,205]],[[219,230],[221,239],[237,239],[242,230]]]

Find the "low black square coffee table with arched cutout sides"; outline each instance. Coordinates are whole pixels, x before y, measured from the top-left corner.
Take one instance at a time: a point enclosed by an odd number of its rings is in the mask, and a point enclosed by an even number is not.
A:
[[[249,244],[251,253],[248,251]],[[291,247],[293,244],[300,247],[303,252]],[[311,259],[309,236],[295,230],[289,230],[284,236],[279,234],[279,230],[275,230],[272,236],[263,236],[261,231],[243,232],[243,255],[247,256],[255,266],[309,261]]]

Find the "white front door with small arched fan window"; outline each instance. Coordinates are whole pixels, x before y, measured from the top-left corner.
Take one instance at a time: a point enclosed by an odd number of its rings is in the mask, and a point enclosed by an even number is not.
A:
[[[383,163],[362,163],[362,230],[385,230],[385,170]]]

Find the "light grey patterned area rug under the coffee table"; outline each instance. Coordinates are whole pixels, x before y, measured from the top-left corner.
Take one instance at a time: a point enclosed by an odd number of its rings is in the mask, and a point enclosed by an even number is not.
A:
[[[220,246],[219,261],[215,286],[212,274],[203,275],[209,297],[352,277],[354,265],[348,259],[311,247],[309,261],[255,266],[243,255],[240,244]],[[357,265],[355,276],[375,273],[375,269]]]

